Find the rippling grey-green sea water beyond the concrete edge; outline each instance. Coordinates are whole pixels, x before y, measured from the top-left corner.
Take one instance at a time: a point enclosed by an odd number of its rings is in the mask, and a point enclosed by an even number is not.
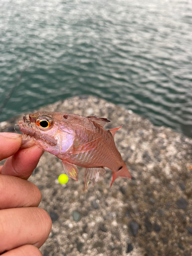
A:
[[[0,121],[92,94],[192,137],[191,0],[1,0],[0,10]]]

